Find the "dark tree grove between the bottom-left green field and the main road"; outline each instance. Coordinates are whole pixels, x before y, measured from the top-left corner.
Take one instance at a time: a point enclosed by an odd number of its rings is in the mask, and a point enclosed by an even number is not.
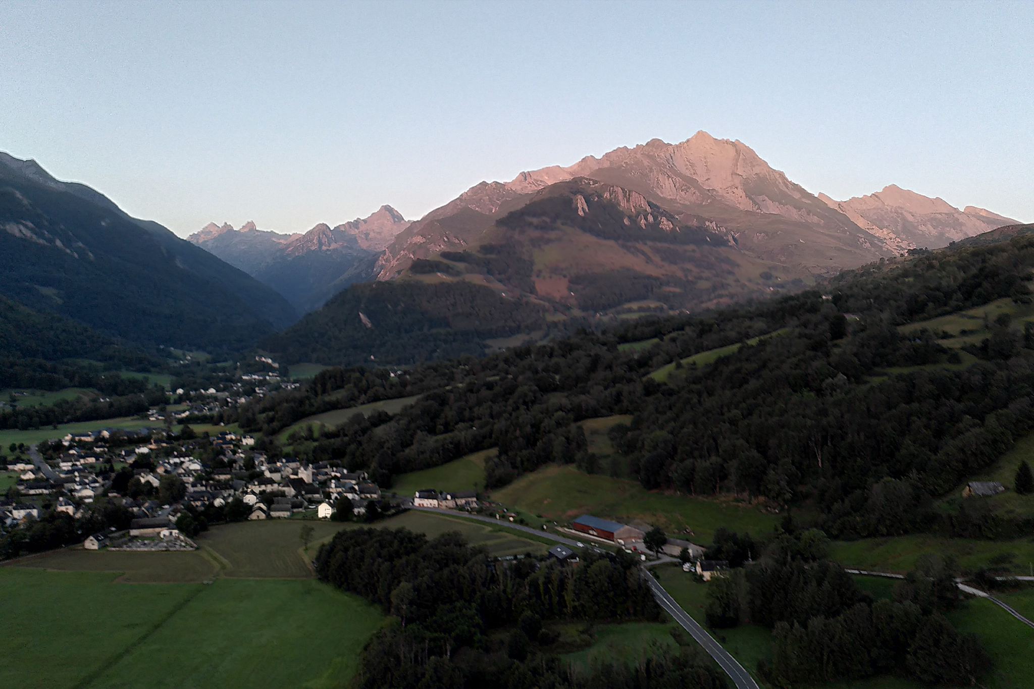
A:
[[[657,621],[661,610],[632,556],[583,551],[577,567],[530,555],[489,558],[458,533],[340,531],[321,546],[325,582],[393,619],[359,659],[363,689],[724,689],[696,649],[651,649],[637,663],[579,670],[556,657],[554,623]]]

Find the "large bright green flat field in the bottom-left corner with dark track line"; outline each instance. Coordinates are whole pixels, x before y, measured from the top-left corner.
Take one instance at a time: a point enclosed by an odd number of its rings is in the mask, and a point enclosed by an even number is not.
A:
[[[314,581],[113,578],[0,568],[0,686],[337,687],[383,620],[362,599]]]

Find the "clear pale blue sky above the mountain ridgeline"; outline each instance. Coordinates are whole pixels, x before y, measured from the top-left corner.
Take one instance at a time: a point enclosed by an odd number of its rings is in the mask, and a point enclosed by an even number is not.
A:
[[[0,4],[0,150],[179,234],[304,230],[698,129],[1034,220],[1034,3]]]

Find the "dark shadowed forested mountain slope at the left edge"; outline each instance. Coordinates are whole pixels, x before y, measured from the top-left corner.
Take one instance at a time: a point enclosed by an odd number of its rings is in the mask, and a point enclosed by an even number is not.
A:
[[[0,153],[0,293],[133,342],[209,350],[250,346],[297,319],[246,273],[129,217],[34,160]]]

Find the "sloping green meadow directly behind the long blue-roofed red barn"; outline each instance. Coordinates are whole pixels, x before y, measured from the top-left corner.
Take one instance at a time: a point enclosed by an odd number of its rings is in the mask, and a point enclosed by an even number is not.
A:
[[[688,537],[701,543],[709,542],[721,526],[755,536],[767,534],[780,519],[742,502],[649,492],[636,481],[585,474],[571,465],[540,467],[494,491],[491,498],[507,507],[556,521],[580,514],[642,520],[661,526],[672,536],[689,528],[693,533]]]

